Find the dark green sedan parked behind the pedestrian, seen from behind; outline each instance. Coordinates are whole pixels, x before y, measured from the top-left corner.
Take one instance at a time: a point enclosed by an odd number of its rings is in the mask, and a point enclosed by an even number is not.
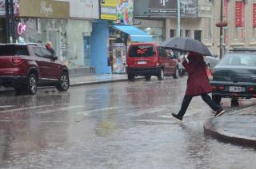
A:
[[[222,97],[232,98],[231,104],[238,98],[256,97],[256,53],[229,53],[214,67],[212,74],[210,84],[215,102],[220,103]]]

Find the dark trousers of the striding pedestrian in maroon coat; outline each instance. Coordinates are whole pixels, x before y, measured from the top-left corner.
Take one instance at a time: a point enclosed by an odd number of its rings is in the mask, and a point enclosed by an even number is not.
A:
[[[206,102],[206,104],[208,104],[210,106],[210,108],[212,108],[214,111],[218,111],[218,110],[222,109],[222,106],[215,103],[214,100],[211,100],[211,98],[208,94],[202,94],[201,97],[202,97],[202,100],[204,100]],[[192,98],[193,98],[193,96],[184,96],[183,101],[182,101],[182,108],[178,112],[178,116],[180,116],[180,117],[184,116],[186,109],[189,107],[190,101],[192,100]]]

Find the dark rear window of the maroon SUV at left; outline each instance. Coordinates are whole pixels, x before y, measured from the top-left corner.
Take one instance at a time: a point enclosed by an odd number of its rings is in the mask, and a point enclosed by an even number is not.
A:
[[[26,45],[0,45],[0,56],[29,55]]]

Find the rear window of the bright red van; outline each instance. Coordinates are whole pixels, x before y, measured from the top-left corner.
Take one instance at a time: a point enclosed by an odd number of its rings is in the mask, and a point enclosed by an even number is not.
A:
[[[154,57],[153,45],[132,45],[129,49],[129,57]]]

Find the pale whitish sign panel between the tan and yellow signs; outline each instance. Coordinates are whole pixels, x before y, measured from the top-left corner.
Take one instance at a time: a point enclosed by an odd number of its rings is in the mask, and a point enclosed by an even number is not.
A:
[[[99,7],[98,1],[95,1],[95,0],[71,0],[70,1],[70,17],[98,19],[99,18],[98,7]]]

